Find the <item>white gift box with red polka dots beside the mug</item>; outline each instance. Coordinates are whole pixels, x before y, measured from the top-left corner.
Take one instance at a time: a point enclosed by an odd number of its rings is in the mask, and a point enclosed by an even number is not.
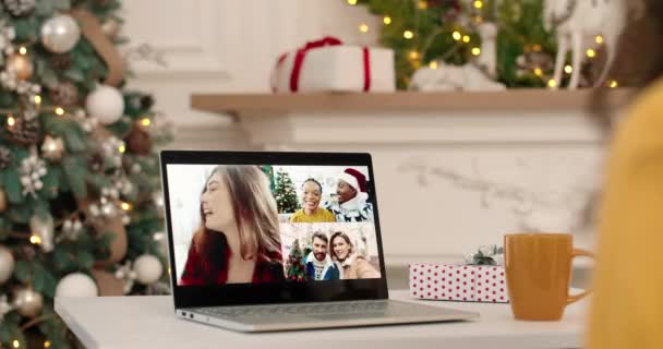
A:
[[[509,301],[504,266],[411,264],[410,294],[444,301]]]

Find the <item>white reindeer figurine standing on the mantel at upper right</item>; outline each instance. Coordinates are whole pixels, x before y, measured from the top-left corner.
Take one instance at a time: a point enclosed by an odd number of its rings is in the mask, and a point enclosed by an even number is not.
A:
[[[572,67],[568,88],[576,89],[580,82],[580,64],[584,56],[584,40],[602,35],[607,48],[605,68],[595,82],[599,86],[607,77],[615,59],[619,34],[626,25],[627,4],[630,0],[545,0],[544,24],[546,29],[557,29],[556,82],[562,81],[562,69],[571,44]],[[558,84],[557,84],[558,85]]]

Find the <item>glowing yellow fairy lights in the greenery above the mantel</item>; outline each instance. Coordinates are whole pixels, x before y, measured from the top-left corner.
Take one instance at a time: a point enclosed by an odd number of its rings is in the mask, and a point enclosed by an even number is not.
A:
[[[346,0],[347,3],[349,5],[357,5],[358,4],[358,0]],[[417,1],[417,8],[419,10],[426,10],[429,7],[427,1],[425,0],[415,0]],[[483,0],[474,0],[471,2],[471,5],[480,11],[484,8],[484,1]],[[483,22],[483,17],[478,14],[474,15],[473,17],[474,23],[480,24]],[[383,15],[383,24],[384,25],[390,25],[393,23],[393,19],[390,15],[388,14],[384,14]],[[360,23],[358,25],[358,29],[361,34],[367,34],[370,31],[370,27],[366,23]],[[402,32],[402,37],[407,40],[411,40],[415,37],[415,29],[414,28],[406,28]],[[454,38],[455,41],[457,41],[458,44],[465,44],[465,45],[472,45],[472,37],[468,34],[463,34],[460,29],[456,29],[454,32],[451,32],[451,37]],[[594,43],[599,46],[604,45],[605,39],[602,35],[596,35],[594,37]],[[542,50],[541,45],[531,45],[529,47],[526,47],[526,52],[527,51],[534,51],[534,52],[540,52]],[[471,47],[471,49],[469,50],[470,53],[474,57],[481,56],[481,47],[473,45]],[[587,56],[587,58],[589,59],[596,59],[599,53],[596,51],[595,48],[588,48],[584,52],[584,55]],[[420,58],[423,57],[424,55],[422,55],[421,52],[419,52],[418,50],[411,50],[408,53],[408,58],[410,59],[411,63],[413,64],[413,67],[415,69],[418,69],[421,65],[420,62]],[[430,62],[427,62],[429,68],[431,69],[438,69],[439,68],[439,62],[438,59],[433,59]],[[566,64],[564,67],[564,73],[566,73],[567,75],[570,75],[574,72],[574,67],[571,64]],[[535,67],[532,69],[532,73],[534,73],[534,75],[539,76],[540,79],[545,79],[545,72],[543,71],[543,69],[541,67]],[[546,82],[546,85],[551,88],[557,87],[559,82],[555,81],[554,79],[549,79]],[[608,80],[606,85],[611,88],[616,88],[619,86],[619,83],[616,80]]]

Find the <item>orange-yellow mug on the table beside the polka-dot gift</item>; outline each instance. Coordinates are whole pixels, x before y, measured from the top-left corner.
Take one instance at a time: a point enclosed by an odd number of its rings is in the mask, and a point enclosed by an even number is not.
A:
[[[558,321],[566,305],[587,294],[569,294],[571,260],[594,258],[574,249],[568,233],[516,233],[504,237],[507,290],[518,320]]]

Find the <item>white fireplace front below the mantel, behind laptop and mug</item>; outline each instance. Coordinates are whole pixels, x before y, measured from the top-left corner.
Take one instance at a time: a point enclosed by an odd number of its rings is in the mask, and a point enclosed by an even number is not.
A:
[[[371,153],[388,264],[460,263],[514,232],[570,232],[577,246],[593,248],[583,224],[603,143],[580,107],[296,111],[241,121],[265,149]]]

